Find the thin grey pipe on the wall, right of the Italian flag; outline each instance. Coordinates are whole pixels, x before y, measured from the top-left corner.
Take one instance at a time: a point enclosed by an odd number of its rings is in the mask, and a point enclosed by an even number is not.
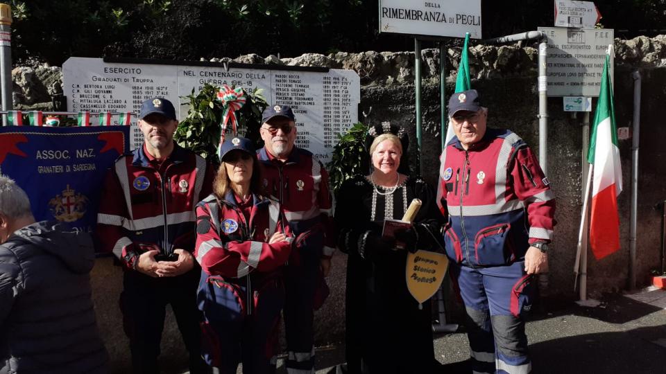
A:
[[[633,78],[633,134],[631,136],[631,226],[629,233],[629,290],[636,287],[636,220],[638,214],[638,141],[640,134],[640,71]]]

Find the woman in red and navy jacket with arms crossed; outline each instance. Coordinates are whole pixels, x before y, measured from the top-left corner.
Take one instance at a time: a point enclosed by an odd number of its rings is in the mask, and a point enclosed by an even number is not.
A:
[[[204,314],[203,357],[221,374],[273,373],[284,304],[280,267],[291,252],[278,202],[259,195],[259,161],[250,140],[220,148],[214,193],[196,206],[197,296]]]

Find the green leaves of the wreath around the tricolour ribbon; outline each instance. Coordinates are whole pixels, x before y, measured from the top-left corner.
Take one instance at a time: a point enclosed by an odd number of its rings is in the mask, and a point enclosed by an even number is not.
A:
[[[178,124],[173,139],[182,147],[188,148],[201,157],[219,163],[217,148],[220,143],[222,127],[223,103],[217,99],[220,87],[205,84],[201,91],[195,93],[194,89],[188,96],[182,96],[189,102],[187,118]],[[238,118],[239,134],[258,143],[259,127],[262,125],[262,112],[266,107],[266,99],[262,96],[262,89],[244,90],[246,94],[245,105],[236,112]],[[227,125],[230,132],[231,124]],[[227,135],[228,136],[228,135]]]

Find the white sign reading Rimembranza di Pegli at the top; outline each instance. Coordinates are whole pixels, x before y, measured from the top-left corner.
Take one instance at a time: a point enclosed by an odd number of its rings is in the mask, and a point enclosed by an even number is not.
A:
[[[379,0],[379,33],[481,38],[481,0]]]

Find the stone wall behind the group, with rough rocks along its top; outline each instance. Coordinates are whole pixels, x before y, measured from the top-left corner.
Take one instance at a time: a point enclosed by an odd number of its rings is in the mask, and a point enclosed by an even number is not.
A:
[[[472,87],[479,89],[484,103],[490,109],[488,124],[506,127],[520,134],[537,152],[538,149],[538,93],[536,88],[535,46],[484,46],[470,48]],[[666,35],[654,38],[636,37],[615,40],[615,110],[618,127],[631,127],[633,116],[633,78],[638,69],[642,73],[642,106],[640,136],[640,170],[638,177],[638,240],[637,278],[639,286],[649,283],[650,269],[660,266],[661,207],[666,199],[663,162],[666,147]],[[422,175],[430,183],[437,177],[437,156],[441,149],[439,134],[439,51],[422,51],[422,155],[425,168]],[[447,51],[447,92],[454,87],[460,48]],[[361,76],[361,106],[359,113],[369,113],[368,121],[392,121],[409,129],[411,144],[415,139],[414,62],[413,52],[336,53],[334,55],[306,54],[296,58],[278,59],[275,56],[245,55],[233,61],[244,63],[271,63],[298,66],[326,66],[335,69],[353,69]],[[214,62],[230,59],[213,59]],[[18,66],[12,71],[14,102],[20,109],[53,109],[62,100],[62,71],[59,67]],[[372,108],[370,110],[370,107]],[[594,109],[594,108],[593,108]],[[550,252],[550,273],[546,292],[573,299],[572,272],[581,212],[581,114],[572,118],[562,111],[560,98],[549,98],[548,160],[549,179],[557,197],[556,240]],[[593,113],[592,115],[593,116]],[[590,120],[591,121],[591,120]],[[411,147],[411,160],[416,154]],[[624,192],[620,195],[622,249],[608,258],[595,260],[590,255],[588,290],[592,297],[601,292],[617,292],[627,285],[629,269],[629,209],[631,195],[631,140],[620,142],[624,175]],[[334,271],[329,280],[332,295],[318,312],[318,344],[339,341],[344,325],[344,269],[345,256],[334,256]],[[114,357],[117,372],[125,370],[128,352],[121,331],[117,296],[121,290],[121,271],[112,267],[109,259],[98,261],[94,270],[96,310],[100,325]],[[182,343],[173,327],[167,326],[163,353],[165,364],[182,362],[178,352]]]

